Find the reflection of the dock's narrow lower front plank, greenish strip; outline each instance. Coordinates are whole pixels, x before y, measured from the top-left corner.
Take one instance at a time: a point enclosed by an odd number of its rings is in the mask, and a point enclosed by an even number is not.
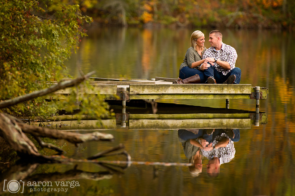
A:
[[[250,113],[196,113],[196,114],[129,114],[129,119],[242,119],[250,118]]]

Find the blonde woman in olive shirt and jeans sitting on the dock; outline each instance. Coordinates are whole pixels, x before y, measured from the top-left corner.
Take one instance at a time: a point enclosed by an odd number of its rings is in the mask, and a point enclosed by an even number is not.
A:
[[[181,63],[179,68],[179,78],[185,79],[193,75],[199,74],[200,83],[205,83],[205,75],[203,73],[204,69],[210,67],[209,64],[204,64],[204,59],[202,56],[206,50],[204,47],[205,35],[201,31],[194,31],[190,36],[191,47],[187,49],[185,53],[183,63]]]

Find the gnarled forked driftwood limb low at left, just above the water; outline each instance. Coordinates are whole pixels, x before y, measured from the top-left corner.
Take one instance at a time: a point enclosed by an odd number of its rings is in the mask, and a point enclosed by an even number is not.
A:
[[[13,116],[0,113],[0,136],[8,142],[8,144],[18,153],[20,157],[35,157],[38,158],[38,160],[36,160],[37,162],[59,162],[56,158],[41,155],[34,143],[26,136],[25,133],[33,135],[41,147],[55,149],[58,152],[63,152],[63,150],[52,144],[44,143],[40,137],[64,139],[74,144],[93,140],[114,139],[113,135],[103,134],[100,132],[80,134],[27,125],[20,120],[15,119]]]

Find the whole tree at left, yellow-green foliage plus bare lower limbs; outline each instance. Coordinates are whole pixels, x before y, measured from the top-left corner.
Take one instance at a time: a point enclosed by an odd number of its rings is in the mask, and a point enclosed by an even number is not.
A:
[[[72,143],[88,140],[112,139],[100,133],[60,133],[54,129],[36,127],[20,119],[44,118],[56,114],[56,107],[45,101],[47,95],[62,88],[74,86],[67,106],[81,101],[81,112],[99,117],[110,115],[103,97],[86,95],[85,88],[92,88],[87,82],[91,75],[81,72],[77,79],[66,74],[64,61],[78,50],[85,22],[92,18],[80,14],[78,5],[55,5],[46,10],[35,0],[10,0],[0,2],[0,137],[18,152],[20,156],[50,160],[41,155],[26,134],[35,137],[41,147],[62,150],[46,144],[41,137],[65,139]],[[58,84],[55,81],[60,81]],[[83,83],[83,88],[79,88]],[[26,134],[25,134],[26,133]],[[106,138],[106,137],[108,138]],[[2,143],[3,145],[3,143]],[[1,157],[0,157],[1,158]]]

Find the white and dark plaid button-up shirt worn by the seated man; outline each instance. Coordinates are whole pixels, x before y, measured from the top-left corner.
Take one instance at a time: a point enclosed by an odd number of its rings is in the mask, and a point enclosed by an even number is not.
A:
[[[236,52],[236,49],[234,49],[230,45],[222,43],[221,49],[219,51],[215,50],[215,47],[208,48],[205,51],[202,59],[205,59],[207,57],[216,58],[218,60],[228,62],[230,64],[230,70],[232,70],[236,67],[235,64],[238,58],[238,54]],[[214,67],[223,75],[226,75],[230,72],[230,70],[220,67],[219,65],[217,65],[217,63],[214,63]]]

